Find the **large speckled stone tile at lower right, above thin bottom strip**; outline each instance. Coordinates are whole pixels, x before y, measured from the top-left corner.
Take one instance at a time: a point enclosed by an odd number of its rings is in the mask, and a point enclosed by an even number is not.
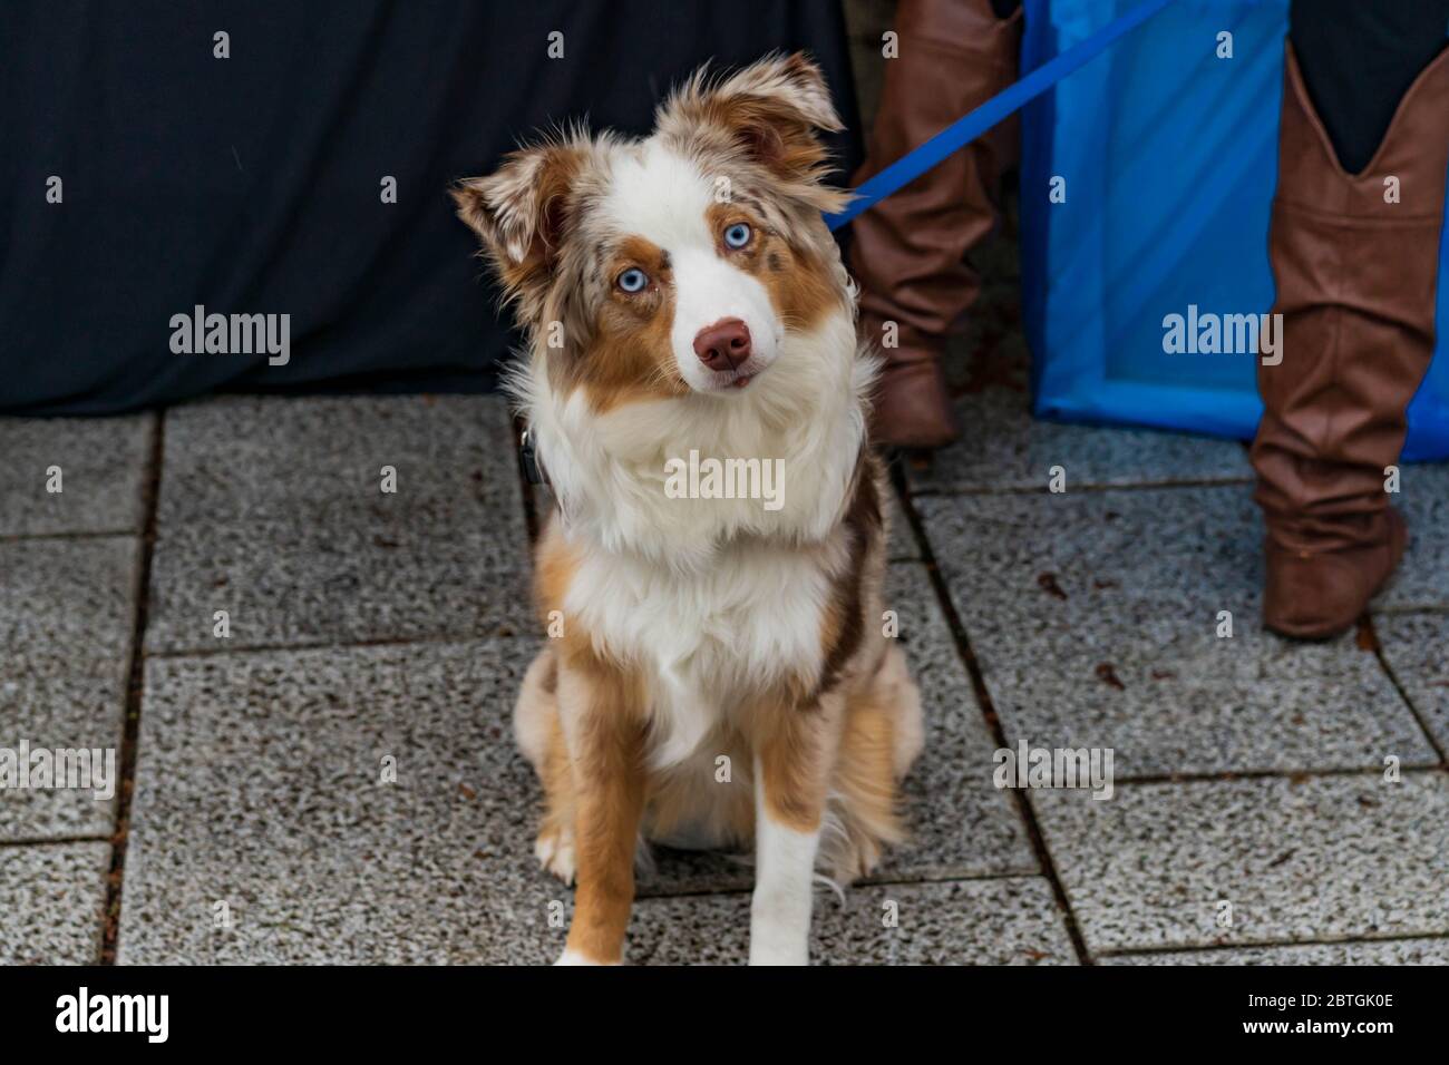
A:
[[[1029,794],[1094,953],[1449,932],[1442,772]]]

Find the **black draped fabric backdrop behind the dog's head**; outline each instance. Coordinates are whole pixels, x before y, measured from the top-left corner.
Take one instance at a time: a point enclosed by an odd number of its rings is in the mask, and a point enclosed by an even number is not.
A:
[[[6,0],[0,412],[488,388],[516,338],[448,184],[585,112],[643,132],[697,64],[775,48],[816,55],[853,129],[835,0]],[[288,313],[290,364],[172,354],[196,304]]]

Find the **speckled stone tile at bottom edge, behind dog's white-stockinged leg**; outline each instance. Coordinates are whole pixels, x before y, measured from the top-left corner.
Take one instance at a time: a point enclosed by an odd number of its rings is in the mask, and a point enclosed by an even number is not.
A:
[[[554,946],[562,949],[562,932]],[[633,965],[746,964],[749,894],[638,903],[625,958]],[[843,903],[817,891],[810,959],[816,965],[1077,964],[1052,890],[1037,877],[859,887]]]

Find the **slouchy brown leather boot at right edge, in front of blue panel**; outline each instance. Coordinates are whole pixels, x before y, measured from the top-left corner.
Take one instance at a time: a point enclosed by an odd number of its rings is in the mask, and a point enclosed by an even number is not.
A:
[[[1404,94],[1364,172],[1349,175],[1290,43],[1278,136],[1269,255],[1282,362],[1259,362],[1252,448],[1268,526],[1264,623],[1321,639],[1353,625],[1404,554],[1385,467],[1398,462],[1404,410],[1435,348],[1449,52]]]

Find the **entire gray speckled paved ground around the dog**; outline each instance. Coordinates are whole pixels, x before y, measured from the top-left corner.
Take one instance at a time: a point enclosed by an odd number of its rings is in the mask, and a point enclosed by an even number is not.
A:
[[[1449,468],[1404,477],[1372,629],[1298,646],[1256,622],[1240,446],[959,403],[893,545],[914,840],[822,890],[816,956],[1449,964]],[[0,793],[0,962],[558,953],[571,895],[535,868],[507,724],[535,635],[498,400],[9,420],[0,455],[0,748],[117,748],[129,781]],[[1113,798],[997,790],[1023,739],[1111,748]],[[743,959],[748,885],[661,855],[632,959]]]

